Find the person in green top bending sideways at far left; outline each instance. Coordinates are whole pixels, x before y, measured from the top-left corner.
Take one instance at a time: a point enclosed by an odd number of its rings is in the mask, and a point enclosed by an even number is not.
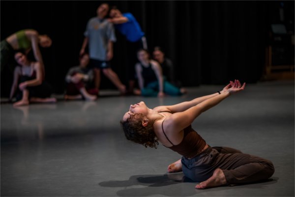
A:
[[[26,54],[30,50],[33,50],[34,58],[41,64],[42,75],[45,77],[44,63],[39,50],[41,47],[50,47],[52,44],[51,38],[46,35],[40,35],[36,30],[26,29],[20,30],[16,33],[9,35],[7,38],[1,41],[1,72],[4,67],[9,66],[11,71],[14,70],[15,65],[13,64],[14,53],[16,50],[24,50]]]

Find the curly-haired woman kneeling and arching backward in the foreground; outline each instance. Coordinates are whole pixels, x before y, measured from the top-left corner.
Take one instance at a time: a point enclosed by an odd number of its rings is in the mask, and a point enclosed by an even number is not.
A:
[[[157,148],[159,142],[182,156],[168,166],[168,172],[183,171],[196,189],[253,183],[274,173],[273,164],[263,158],[228,147],[211,147],[191,124],[203,112],[229,96],[244,90],[238,80],[222,91],[175,105],[148,108],[145,102],[130,105],[120,121],[128,140]]]

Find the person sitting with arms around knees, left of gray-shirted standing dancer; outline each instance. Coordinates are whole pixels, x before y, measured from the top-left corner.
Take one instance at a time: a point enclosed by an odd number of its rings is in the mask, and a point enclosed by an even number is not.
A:
[[[98,95],[97,89],[91,88],[93,83],[93,70],[87,66],[89,64],[89,55],[83,54],[79,58],[80,65],[71,67],[66,76],[66,93],[64,99],[86,99],[95,100]]]

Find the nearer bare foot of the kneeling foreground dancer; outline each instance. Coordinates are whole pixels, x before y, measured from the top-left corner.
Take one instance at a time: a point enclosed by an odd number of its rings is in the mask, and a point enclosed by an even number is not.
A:
[[[226,179],[223,171],[220,168],[214,170],[213,175],[206,181],[203,181],[196,185],[196,189],[213,188],[226,184]]]

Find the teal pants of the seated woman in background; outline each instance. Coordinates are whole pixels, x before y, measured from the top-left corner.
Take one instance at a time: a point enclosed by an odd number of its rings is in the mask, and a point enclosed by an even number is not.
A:
[[[163,81],[163,92],[170,96],[180,96],[182,93],[180,89],[172,85],[168,81]],[[141,91],[142,96],[144,97],[156,97],[159,93],[159,83],[158,81],[150,82],[144,89]]]

